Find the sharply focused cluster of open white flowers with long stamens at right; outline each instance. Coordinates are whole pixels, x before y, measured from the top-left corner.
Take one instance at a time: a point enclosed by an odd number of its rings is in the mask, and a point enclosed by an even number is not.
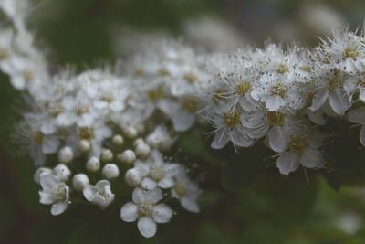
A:
[[[328,117],[365,123],[365,38],[347,28],[318,48],[243,48],[218,55],[204,114],[213,123],[212,147],[249,147],[260,138],[277,153],[283,175],[322,168]],[[208,101],[210,100],[210,102]],[[360,130],[365,146],[365,127]]]

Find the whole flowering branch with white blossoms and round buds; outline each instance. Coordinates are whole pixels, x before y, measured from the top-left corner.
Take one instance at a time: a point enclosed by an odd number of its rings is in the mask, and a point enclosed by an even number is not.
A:
[[[159,40],[123,65],[77,73],[50,68],[26,28],[26,1],[0,7],[8,20],[0,69],[28,101],[17,139],[52,215],[73,203],[117,204],[120,220],[137,221],[151,238],[172,218],[173,200],[200,211],[199,160],[222,164],[228,189],[249,186],[273,164],[283,177],[301,169],[308,181],[326,175],[332,186],[363,173],[363,31],[339,28],[316,48],[267,44],[230,53]],[[230,162],[219,150],[232,151]]]

